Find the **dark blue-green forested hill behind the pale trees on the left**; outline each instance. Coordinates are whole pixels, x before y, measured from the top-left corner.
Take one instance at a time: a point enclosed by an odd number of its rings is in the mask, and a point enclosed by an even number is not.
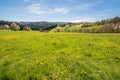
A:
[[[51,30],[55,28],[58,24],[65,24],[64,22],[10,22],[0,20],[0,26],[9,25],[12,23],[16,23],[20,26],[20,29],[23,30],[24,26],[29,26],[32,30]]]

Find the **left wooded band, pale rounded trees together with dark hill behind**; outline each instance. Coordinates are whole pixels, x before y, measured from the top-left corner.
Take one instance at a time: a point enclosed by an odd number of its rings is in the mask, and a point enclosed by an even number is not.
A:
[[[14,26],[14,27],[13,27]],[[46,31],[51,30],[57,26],[55,22],[9,22],[0,21],[0,29],[11,29],[11,30],[39,30]]]

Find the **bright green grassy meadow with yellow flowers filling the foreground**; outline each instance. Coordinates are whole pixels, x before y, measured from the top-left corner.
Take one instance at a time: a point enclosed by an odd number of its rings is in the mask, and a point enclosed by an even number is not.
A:
[[[120,34],[0,31],[0,80],[119,80]]]

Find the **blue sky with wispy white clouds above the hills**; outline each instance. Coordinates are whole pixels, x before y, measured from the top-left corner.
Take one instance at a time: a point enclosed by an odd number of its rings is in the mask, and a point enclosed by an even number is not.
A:
[[[120,16],[120,0],[0,0],[0,20],[90,22]]]

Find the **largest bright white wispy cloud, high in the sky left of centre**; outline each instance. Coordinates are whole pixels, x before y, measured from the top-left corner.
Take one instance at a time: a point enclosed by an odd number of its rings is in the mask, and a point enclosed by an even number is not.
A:
[[[27,7],[27,9],[35,14],[66,14],[69,10],[65,7],[56,7],[54,9],[42,6],[39,3],[32,4]]]

